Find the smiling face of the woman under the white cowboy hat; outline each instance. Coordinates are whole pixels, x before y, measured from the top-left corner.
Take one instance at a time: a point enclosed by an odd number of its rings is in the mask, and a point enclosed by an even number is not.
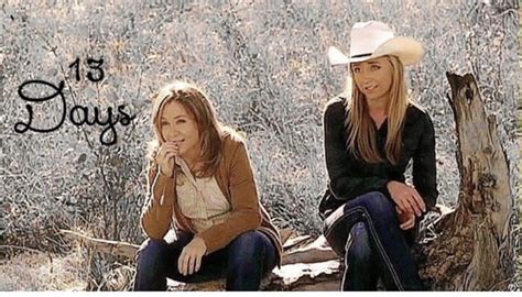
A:
[[[393,67],[388,57],[378,57],[351,65],[357,88],[367,100],[388,100],[393,79]]]

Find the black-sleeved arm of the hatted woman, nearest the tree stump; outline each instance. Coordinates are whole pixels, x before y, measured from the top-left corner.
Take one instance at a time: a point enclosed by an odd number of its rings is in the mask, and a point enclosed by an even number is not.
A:
[[[435,206],[438,197],[437,169],[435,161],[435,130],[432,119],[424,114],[424,129],[415,153],[413,154],[413,186],[429,208]]]

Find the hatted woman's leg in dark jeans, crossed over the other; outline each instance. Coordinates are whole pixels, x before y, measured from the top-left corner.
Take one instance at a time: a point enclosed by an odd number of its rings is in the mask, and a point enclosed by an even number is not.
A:
[[[372,191],[347,201],[325,220],[325,238],[334,251],[345,254],[347,230],[365,222],[370,242],[374,246],[382,280],[388,289],[424,289],[404,233],[399,227],[393,204],[381,193]]]

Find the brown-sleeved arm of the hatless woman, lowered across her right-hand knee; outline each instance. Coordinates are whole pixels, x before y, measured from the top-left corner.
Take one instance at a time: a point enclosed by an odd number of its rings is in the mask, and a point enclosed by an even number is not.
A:
[[[205,241],[207,254],[225,248],[239,234],[255,230],[261,224],[258,190],[242,142],[235,147],[228,178],[232,207],[230,216],[224,222],[196,234]]]

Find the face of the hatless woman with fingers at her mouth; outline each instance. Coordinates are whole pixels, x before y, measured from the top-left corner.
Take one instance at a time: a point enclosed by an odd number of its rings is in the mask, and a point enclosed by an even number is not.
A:
[[[174,100],[165,103],[160,127],[166,142],[177,143],[181,157],[187,161],[199,156],[202,145],[198,125],[194,116],[182,103]]]

